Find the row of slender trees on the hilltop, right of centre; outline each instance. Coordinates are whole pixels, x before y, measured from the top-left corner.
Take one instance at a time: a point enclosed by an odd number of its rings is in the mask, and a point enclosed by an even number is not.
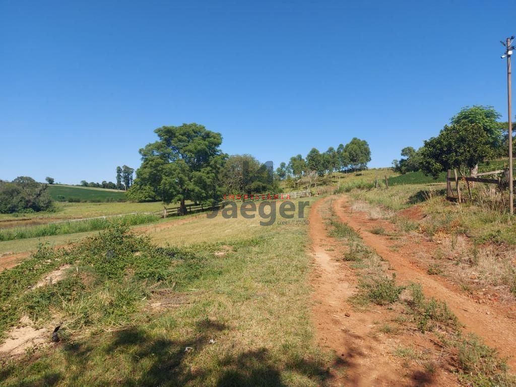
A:
[[[311,172],[324,176],[334,171],[365,169],[370,160],[371,151],[367,141],[354,137],[346,145],[340,144],[336,150],[330,147],[326,152],[321,153],[316,148],[312,148],[306,158],[300,154],[293,156],[288,164],[281,163],[276,173],[281,180],[288,176],[299,179]]]

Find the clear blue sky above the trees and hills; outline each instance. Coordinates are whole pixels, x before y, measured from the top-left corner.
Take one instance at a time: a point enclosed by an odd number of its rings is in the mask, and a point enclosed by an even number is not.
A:
[[[348,3],[348,4],[346,4]],[[508,15],[504,12],[507,11]],[[162,125],[262,162],[368,141],[390,166],[462,106],[507,119],[513,2],[0,0],[0,179],[115,180]]]

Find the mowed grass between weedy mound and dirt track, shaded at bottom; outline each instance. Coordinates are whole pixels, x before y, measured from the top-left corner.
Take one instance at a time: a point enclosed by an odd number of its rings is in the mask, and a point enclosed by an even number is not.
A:
[[[116,245],[106,247],[115,251],[111,254],[102,244],[85,245],[85,251],[95,251],[86,253],[85,260],[93,260],[90,272],[103,270],[105,256],[118,265],[118,256],[132,261],[133,250],[139,249],[142,256],[158,255],[149,263],[159,262],[161,277],[156,281],[144,274],[146,265],[114,272],[102,286],[74,299],[77,308],[82,302],[92,305],[93,316],[100,316],[92,322],[80,317],[82,309],[71,308],[70,302],[64,312],[62,302],[53,302],[50,310],[64,321],[61,343],[36,357],[28,353],[4,364],[4,385],[325,384],[336,358],[319,349],[314,337],[308,227],[302,222],[262,227],[259,221],[201,217],[164,229],[163,235],[156,229],[151,246],[182,246],[164,250],[180,254],[170,266],[159,257],[160,250],[152,252],[154,247],[135,245],[119,255]],[[88,272],[88,265],[83,266],[79,273]],[[70,286],[65,281],[79,277],[74,272],[63,280],[62,289]],[[136,286],[133,273],[147,279]],[[92,283],[85,282],[86,290]],[[40,292],[48,294],[45,288]],[[112,300],[106,301],[109,313],[94,308],[105,297]],[[77,315],[79,319],[72,318]],[[53,328],[52,316],[46,318],[40,324]],[[80,321],[86,323],[77,328]]]

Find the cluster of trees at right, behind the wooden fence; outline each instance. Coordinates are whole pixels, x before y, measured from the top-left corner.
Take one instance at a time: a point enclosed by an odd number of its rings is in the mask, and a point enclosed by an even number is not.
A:
[[[466,106],[423,147],[402,149],[403,157],[393,161],[393,168],[401,173],[422,170],[436,178],[454,168],[464,175],[474,173],[478,163],[508,154],[508,123],[497,121],[501,117],[492,106]]]

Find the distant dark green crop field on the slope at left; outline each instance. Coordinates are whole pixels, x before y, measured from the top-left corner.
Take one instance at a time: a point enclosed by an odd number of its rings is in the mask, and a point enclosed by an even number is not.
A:
[[[96,203],[125,201],[124,191],[114,191],[102,188],[52,184],[47,186],[47,192],[49,192],[50,197],[56,201]]]

